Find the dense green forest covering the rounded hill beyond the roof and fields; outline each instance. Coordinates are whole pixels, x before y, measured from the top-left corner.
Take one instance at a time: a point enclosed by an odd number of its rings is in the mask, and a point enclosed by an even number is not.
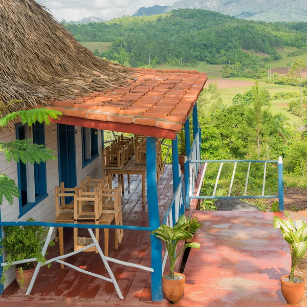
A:
[[[280,59],[278,47],[307,51],[306,23],[264,23],[220,13],[183,9],[163,15],[116,18],[106,23],[64,26],[80,42],[108,41],[97,56],[131,67],[169,63],[191,66],[198,61],[230,64],[224,77],[263,77],[266,64]],[[267,56],[258,56],[261,52]],[[233,68],[233,65],[234,68]]]

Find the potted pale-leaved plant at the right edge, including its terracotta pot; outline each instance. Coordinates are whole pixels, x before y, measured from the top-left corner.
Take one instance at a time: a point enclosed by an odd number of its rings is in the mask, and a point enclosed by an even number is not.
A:
[[[283,238],[290,244],[291,273],[280,278],[281,292],[289,304],[298,304],[305,292],[305,279],[294,275],[295,268],[306,255],[307,250],[307,225],[302,220],[287,221],[274,216],[274,227],[279,228]]]

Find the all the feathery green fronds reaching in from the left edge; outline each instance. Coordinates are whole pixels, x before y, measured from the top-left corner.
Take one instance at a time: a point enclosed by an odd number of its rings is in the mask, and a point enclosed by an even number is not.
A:
[[[14,102],[14,101],[13,101]],[[0,101],[1,105],[4,105]],[[9,102],[8,104],[12,104]],[[2,110],[3,112],[3,110]],[[50,119],[58,119],[58,116],[62,115],[59,111],[46,108],[31,109],[27,111],[18,111],[8,114],[7,116],[0,119],[0,126],[5,127],[10,121],[20,119],[21,123],[32,125],[35,122],[45,122],[49,124]],[[43,145],[32,144],[32,140],[15,140],[13,142],[2,142],[0,143],[0,151],[4,152],[7,162],[11,162],[12,159],[15,162],[27,163],[40,163],[47,162],[49,160],[55,160],[56,157],[53,155],[53,151]],[[9,178],[5,174],[0,174],[0,205],[3,203],[5,198],[10,205],[13,204],[15,198],[19,198],[19,188],[15,181]]]

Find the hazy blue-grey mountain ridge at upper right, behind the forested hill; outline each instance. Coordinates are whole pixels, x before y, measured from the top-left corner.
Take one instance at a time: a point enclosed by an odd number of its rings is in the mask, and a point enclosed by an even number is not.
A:
[[[133,16],[156,15],[178,9],[210,10],[237,18],[267,22],[307,19],[306,0],[182,0],[172,6],[142,7]]]

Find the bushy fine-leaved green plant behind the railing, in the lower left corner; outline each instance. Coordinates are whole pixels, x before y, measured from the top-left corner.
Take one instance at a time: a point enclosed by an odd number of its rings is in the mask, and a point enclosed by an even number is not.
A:
[[[27,222],[34,222],[33,218],[28,218]],[[41,250],[45,244],[48,228],[42,226],[5,226],[3,227],[6,233],[6,237],[0,241],[2,247],[0,248],[0,254],[6,252],[6,266],[3,268],[1,276],[1,283],[6,280],[5,272],[10,268],[12,262],[20,261],[28,258],[36,258],[37,261],[45,265],[46,258],[42,256]],[[54,242],[51,241],[49,246],[53,246]],[[30,270],[35,267],[33,262],[27,262],[25,264],[16,265],[21,279],[21,287],[24,283],[24,270]]]

